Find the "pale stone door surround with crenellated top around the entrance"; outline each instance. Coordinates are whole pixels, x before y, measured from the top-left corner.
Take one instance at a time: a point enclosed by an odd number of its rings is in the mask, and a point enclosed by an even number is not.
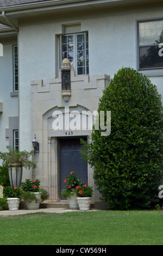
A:
[[[109,85],[108,75],[93,76],[93,82],[89,81],[89,76],[75,76],[74,70],[71,70],[71,92],[70,97],[65,98],[67,91],[61,91],[61,72],[59,78],[43,80],[32,80],[32,134],[36,134],[40,144],[40,152],[36,154],[37,168],[33,171],[33,176],[39,178],[43,187],[49,193],[49,201],[60,200],[60,175],[59,175],[59,151],[58,138],[66,137],[65,130],[54,130],[52,122],[54,120],[54,111],[61,111],[65,114],[65,106],[72,111],[95,111],[98,109],[99,97],[102,96],[104,88]],[[91,130],[68,129],[74,136],[87,136],[90,140]],[[92,203],[99,201],[99,195],[96,193],[93,182],[93,170],[88,165],[88,184],[94,188],[95,193],[92,197]]]

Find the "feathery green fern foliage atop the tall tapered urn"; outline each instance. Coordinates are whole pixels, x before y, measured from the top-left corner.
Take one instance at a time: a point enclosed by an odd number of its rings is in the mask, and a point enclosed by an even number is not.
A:
[[[30,157],[33,156],[34,151],[19,151],[10,146],[7,146],[7,149],[8,152],[0,152],[0,159],[3,160],[3,163],[5,163],[5,165],[20,164],[28,169],[36,168],[36,163],[30,160]]]

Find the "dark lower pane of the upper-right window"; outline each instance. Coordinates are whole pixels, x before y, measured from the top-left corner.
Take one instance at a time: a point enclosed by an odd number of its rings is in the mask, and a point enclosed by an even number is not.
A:
[[[159,56],[160,48],[155,46],[140,47],[140,68],[163,68],[163,56]]]

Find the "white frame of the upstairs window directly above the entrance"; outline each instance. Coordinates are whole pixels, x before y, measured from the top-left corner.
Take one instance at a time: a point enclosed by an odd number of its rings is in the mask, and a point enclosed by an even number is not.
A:
[[[84,72],[83,74],[78,74],[78,67],[77,67],[77,35],[84,35]],[[77,75],[88,75],[89,71],[87,72],[87,69],[89,70],[89,65],[87,66],[86,60],[88,59],[89,61],[89,47],[86,49],[86,36],[88,37],[88,32],[80,32],[80,33],[70,33],[70,34],[64,34],[60,35],[60,67],[62,63],[62,37],[63,36],[68,36],[72,35],[73,36],[73,68],[76,71]],[[89,39],[88,39],[88,44],[89,44]],[[87,57],[87,51],[88,51],[88,57]]]

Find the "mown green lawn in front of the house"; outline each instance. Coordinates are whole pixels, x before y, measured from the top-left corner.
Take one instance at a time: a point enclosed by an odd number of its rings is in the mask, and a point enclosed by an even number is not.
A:
[[[163,211],[0,216],[0,245],[163,245]]]

